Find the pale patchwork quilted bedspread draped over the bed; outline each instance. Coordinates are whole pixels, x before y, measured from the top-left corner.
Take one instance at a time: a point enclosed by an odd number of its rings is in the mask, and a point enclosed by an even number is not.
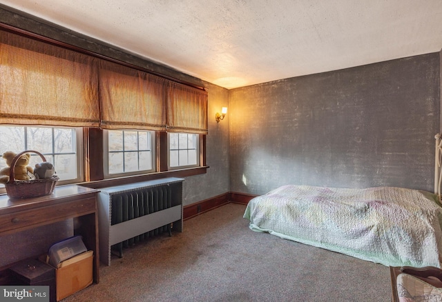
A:
[[[252,199],[249,228],[388,266],[441,268],[442,208],[406,188],[285,185]]]

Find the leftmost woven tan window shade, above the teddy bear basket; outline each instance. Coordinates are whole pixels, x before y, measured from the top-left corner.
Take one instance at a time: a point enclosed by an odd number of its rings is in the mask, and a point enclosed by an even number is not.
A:
[[[0,123],[99,126],[97,59],[0,31]]]

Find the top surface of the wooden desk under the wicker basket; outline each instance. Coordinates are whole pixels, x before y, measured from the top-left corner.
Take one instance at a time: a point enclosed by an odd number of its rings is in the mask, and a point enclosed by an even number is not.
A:
[[[81,185],[60,185],[54,188],[52,194],[29,199],[10,199],[5,194],[0,196],[0,214],[44,206],[48,203],[57,203],[57,201],[62,201],[63,199],[69,199],[70,197],[78,198],[79,195],[93,194],[95,192],[99,192],[99,190],[81,187]]]

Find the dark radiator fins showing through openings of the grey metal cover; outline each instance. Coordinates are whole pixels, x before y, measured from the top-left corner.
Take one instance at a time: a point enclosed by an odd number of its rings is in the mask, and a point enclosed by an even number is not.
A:
[[[171,187],[169,185],[161,185],[159,187],[144,188],[141,190],[115,194],[112,196],[111,202],[111,225],[115,225],[117,223],[122,223],[124,221],[171,208]],[[128,248],[130,245],[134,245],[148,237],[162,234],[162,232],[169,232],[169,236],[171,236],[171,223],[114,244],[112,245],[111,250],[117,252],[118,256],[121,258],[123,256],[123,248]]]

